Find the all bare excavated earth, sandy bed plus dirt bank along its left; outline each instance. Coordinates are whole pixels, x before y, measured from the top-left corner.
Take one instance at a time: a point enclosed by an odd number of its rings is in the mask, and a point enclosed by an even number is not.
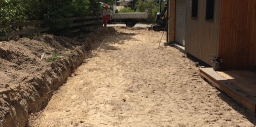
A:
[[[109,27],[0,42],[0,127],[256,125],[183,53],[158,47],[161,35]]]

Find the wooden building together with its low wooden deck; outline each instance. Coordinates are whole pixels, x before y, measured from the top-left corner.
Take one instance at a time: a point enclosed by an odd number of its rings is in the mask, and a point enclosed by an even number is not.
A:
[[[256,114],[256,0],[169,0],[167,42],[224,71],[199,68],[200,75]],[[185,10],[185,11],[184,11]],[[185,22],[185,25],[183,24]],[[185,36],[184,36],[185,33]]]

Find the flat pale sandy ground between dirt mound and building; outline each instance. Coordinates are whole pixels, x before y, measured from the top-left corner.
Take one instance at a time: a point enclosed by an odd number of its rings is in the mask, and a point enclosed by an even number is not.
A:
[[[211,87],[162,32],[124,27],[105,38],[31,116],[30,127],[254,127],[256,119]],[[165,38],[165,35],[164,35]]]

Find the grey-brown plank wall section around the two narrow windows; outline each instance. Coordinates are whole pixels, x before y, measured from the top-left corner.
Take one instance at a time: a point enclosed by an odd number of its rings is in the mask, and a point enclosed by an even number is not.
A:
[[[186,43],[187,53],[211,65],[218,56],[220,1],[214,1],[213,20],[206,20],[207,0],[198,0],[197,18],[192,18],[192,0],[187,0]]]

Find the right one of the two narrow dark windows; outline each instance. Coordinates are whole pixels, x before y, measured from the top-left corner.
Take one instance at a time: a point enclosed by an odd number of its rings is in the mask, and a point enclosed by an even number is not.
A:
[[[214,14],[214,0],[207,0],[205,20],[213,21],[213,14]]]

